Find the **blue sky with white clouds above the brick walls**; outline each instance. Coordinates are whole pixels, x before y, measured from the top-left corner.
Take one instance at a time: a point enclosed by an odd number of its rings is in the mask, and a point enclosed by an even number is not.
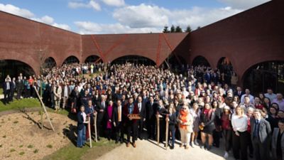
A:
[[[207,26],[269,0],[0,0],[0,11],[81,34]]]

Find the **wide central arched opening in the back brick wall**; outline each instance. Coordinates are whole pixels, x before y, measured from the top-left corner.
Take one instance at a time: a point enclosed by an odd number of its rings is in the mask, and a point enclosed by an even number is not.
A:
[[[133,63],[135,65],[155,65],[155,62],[149,58],[139,55],[126,55],[112,60],[111,64]]]

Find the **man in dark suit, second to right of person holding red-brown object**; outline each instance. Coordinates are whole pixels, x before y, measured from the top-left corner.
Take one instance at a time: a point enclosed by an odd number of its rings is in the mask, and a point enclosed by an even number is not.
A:
[[[155,139],[155,102],[151,96],[146,104],[146,125],[148,139]]]

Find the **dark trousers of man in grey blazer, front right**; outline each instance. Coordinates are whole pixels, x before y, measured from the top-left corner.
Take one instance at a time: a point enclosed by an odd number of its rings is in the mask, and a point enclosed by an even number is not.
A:
[[[252,144],[253,144],[253,152],[254,152],[254,159],[256,160],[266,160],[269,159],[269,143],[268,142],[263,142],[255,137],[252,139]]]

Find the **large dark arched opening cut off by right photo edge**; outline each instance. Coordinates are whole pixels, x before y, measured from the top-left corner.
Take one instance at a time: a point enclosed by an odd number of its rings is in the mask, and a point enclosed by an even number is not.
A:
[[[251,92],[266,92],[271,87],[275,92],[284,90],[284,61],[266,61],[253,65],[243,76],[244,88]]]

